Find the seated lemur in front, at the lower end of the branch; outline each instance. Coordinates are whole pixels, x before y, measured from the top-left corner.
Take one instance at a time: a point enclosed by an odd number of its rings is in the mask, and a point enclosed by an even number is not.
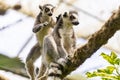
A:
[[[75,11],[59,15],[53,32],[44,38],[39,80],[46,80],[46,74],[54,75],[53,72],[45,72],[51,62],[56,63],[59,58],[65,58],[74,51],[76,38],[73,25],[79,24],[77,15]]]

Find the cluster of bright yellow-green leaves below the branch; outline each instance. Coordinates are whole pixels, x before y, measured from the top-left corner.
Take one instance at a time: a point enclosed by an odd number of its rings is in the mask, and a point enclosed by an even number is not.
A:
[[[120,80],[120,58],[114,52],[110,55],[102,53],[101,56],[110,63],[105,69],[97,69],[94,72],[87,72],[88,78],[100,76],[102,80]]]

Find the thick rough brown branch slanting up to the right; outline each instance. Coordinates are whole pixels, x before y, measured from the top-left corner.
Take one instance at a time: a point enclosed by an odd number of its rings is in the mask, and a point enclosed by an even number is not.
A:
[[[79,67],[87,58],[96,52],[102,45],[106,44],[117,30],[120,29],[120,8],[112,14],[109,20],[102,26],[102,28],[94,33],[84,46],[76,49],[72,57],[69,58],[64,67],[61,78],[64,78],[77,67]],[[62,63],[60,63],[62,64]]]

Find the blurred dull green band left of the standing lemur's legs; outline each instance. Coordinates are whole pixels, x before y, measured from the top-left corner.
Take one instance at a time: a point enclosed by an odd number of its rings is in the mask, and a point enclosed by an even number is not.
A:
[[[0,70],[6,70],[28,77],[25,71],[25,64],[18,57],[10,58],[0,54]]]

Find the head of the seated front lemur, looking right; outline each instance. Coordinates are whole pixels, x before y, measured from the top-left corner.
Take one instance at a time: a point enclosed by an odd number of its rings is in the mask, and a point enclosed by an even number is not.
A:
[[[78,13],[75,11],[70,11],[69,14],[67,12],[63,15],[64,18],[68,19],[73,25],[78,25]]]

